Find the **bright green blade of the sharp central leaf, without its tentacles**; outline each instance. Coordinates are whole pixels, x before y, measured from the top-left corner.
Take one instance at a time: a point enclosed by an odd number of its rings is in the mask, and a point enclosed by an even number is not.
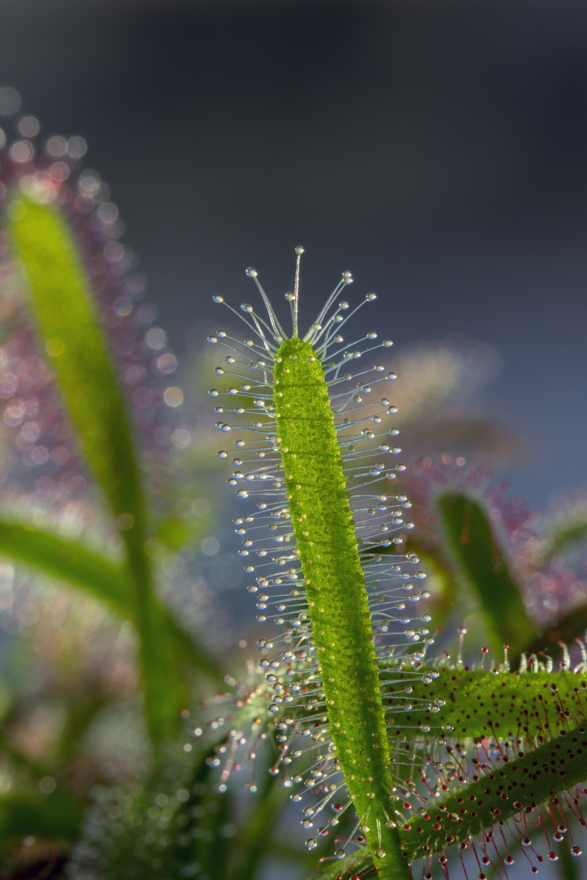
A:
[[[274,402],[291,521],[328,721],[379,880],[408,876],[393,822],[390,752],[363,570],[322,364],[294,336],[275,358]]]

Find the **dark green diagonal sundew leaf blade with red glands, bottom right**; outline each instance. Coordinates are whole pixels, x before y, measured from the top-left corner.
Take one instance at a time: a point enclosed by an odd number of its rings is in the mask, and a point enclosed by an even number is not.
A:
[[[444,802],[435,801],[429,807],[428,819],[415,818],[409,828],[400,828],[402,846],[416,858],[424,854],[425,846],[431,853],[442,852],[449,842],[459,843],[526,808],[547,803],[585,779],[587,732],[582,725],[565,731],[564,736],[553,737],[521,758],[499,762],[488,774],[459,788]],[[447,840],[449,837],[451,840]]]

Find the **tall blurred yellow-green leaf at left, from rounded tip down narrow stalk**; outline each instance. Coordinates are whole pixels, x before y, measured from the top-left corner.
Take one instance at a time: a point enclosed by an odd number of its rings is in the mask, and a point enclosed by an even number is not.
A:
[[[77,429],[84,456],[121,529],[140,637],[145,715],[155,742],[177,729],[179,693],[144,552],[146,513],[133,441],[114,366],[100,331],[77,247],[59,213],[29,199],[9,209],[8,229],[22,266],[44,348]]]

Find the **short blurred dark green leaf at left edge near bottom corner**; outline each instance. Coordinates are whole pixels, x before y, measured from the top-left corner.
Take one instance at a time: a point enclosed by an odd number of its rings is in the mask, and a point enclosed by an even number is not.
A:
[[[45,840],[77,840],[81,820],[81,806],[64,791],[0,797],[0,843],[30,835]]]

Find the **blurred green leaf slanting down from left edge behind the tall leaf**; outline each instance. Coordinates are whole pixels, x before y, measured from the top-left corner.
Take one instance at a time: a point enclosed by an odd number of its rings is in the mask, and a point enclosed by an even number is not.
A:
[[[36,526],[0,519],[0,555],[38,568],[79,587],[106,603],[121,617],[133,620],[132,584],[125,566],[106,559],[77,541]],[[169,634],[169,648],[196,671],[217,679],[222,673],[207,652],[182,629],[157,600],[158,618]]]

